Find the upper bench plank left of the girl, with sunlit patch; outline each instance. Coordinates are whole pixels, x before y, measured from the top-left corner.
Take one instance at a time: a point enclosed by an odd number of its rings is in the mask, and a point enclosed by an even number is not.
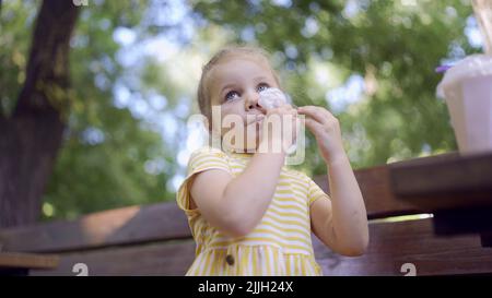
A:
[[[190,237],[175,202],[131,206],[0,230],[3,251],[59,252]]]

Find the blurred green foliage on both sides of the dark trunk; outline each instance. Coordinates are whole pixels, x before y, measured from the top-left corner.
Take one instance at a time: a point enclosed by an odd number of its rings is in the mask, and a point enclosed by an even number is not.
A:
[[[173,199],[166,182],[174,153],[142,119],[114,105],[114,85],[131,70],[116,59],[120,45],[113,33],[139,25],[148,4],[98,1],[82,8],[71,40],[69,103],[56,100],[60,91],[47,90],[68,126],[43,198],[45,218]],[[8,1],[2,7],[0,102],[7,115],[25,78],[38,5],[39,1]]]

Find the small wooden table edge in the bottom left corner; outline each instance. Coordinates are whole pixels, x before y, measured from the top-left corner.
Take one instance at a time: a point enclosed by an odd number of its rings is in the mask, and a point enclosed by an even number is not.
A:
[[[58,262],[56,255],[0,252],[0,275],[28,275],[32,269],[56,269]]]

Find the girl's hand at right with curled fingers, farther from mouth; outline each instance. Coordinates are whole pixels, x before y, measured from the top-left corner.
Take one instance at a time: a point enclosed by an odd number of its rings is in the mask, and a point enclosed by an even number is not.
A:
[[[347,157],[341,139],[340,123],[331,112],[316,106],[300,107],[297,112],[306,116],[306,127],[315,135],[319,152],[326,164]]]

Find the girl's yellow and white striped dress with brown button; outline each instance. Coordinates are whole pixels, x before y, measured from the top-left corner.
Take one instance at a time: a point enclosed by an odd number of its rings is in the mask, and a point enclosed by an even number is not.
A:
[[[198,208],[190,210],[189,182],[196,174],[221,169],[236,177],[251,156],[207,147],[191,155],[188,175],[176,195],[197,243],[186,275],[323,275],[314,258],[309,206],[327,194],[303,172],[282,167],[266,214],[244,237],[224,235],[209,225]]]

